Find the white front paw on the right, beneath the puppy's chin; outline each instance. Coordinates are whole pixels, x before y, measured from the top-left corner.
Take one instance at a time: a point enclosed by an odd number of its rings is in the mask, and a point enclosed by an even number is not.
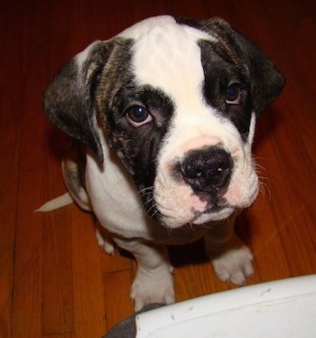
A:
[[[211,259],[218,278],[237,286],[245,285],[246,277],[253,275],[252,260],[253,255],[245,245],[228,249],[220,256]]]

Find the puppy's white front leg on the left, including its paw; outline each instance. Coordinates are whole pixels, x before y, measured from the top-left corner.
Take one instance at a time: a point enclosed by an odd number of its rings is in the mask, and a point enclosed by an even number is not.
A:
[[[172,266],[166,247],[141,239],[114,240],[120,248],[131,252],[138,264],[130,294],[135,311],[152,303],[174,303]]]

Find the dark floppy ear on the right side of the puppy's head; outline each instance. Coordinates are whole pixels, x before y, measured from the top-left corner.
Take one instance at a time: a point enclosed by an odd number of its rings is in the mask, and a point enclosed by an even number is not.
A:
[[[283,89],[285,79],[254,42],[244,34],[237,32],[227,22],[220,18],[204,22],[203,29],[210,31],[228,48],[237,52],[249,73],[253,110],[259,116]]]

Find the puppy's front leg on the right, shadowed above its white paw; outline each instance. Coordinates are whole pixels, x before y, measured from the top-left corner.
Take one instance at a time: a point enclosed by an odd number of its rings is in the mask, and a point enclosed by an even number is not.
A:
[[[238,286],[254,273],[253,255],[234,231],[236,215],[219,222],[204,237],[205,248],[218,278]]]

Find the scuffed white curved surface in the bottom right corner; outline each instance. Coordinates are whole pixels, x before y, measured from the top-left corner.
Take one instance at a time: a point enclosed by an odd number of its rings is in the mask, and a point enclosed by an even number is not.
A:
[[[244,286],[136,316],[136,338],[316,337],[316,275]]]

